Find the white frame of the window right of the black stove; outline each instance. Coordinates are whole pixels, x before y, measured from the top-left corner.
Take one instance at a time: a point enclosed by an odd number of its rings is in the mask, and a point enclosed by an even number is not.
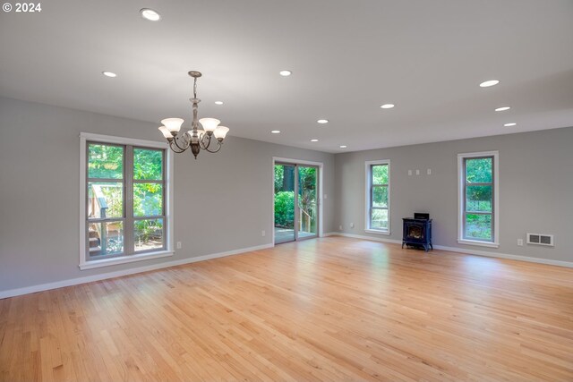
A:
[[[464,238],[464,183],[466,183],[466,174],[464,174],[464,159],[474,157],[493,157],[493,242],[483,242],[478,240],[468,240]],[[481,247],[499,248],[500,247],[500,152],[499,151],[482,151],[474,153],[458,154],[458,243],[477,245]]]

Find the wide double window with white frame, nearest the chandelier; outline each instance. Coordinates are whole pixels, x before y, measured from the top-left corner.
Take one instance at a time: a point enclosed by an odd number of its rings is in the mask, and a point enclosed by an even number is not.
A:
[[[172,255],[166,148],[81,134],[81,269]]]

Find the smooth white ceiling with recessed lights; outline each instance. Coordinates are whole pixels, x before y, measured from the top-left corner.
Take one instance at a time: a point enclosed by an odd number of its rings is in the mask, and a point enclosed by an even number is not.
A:
[[[571,0],[51,0],[0,47],[0,96],[188,127],[197,70],[200,117],[305,149],[573,126]]]

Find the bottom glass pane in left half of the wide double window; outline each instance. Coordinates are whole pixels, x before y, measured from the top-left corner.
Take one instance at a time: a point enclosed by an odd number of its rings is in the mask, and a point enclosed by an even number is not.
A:
[[[90,256],[124,252],[124,222],[101,222],[88,225]]]

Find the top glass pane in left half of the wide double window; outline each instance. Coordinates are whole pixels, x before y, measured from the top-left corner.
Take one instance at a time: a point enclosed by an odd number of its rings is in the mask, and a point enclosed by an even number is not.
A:
[[[124,178],[124,148],[96,143],[88,145],[89,178]]]

